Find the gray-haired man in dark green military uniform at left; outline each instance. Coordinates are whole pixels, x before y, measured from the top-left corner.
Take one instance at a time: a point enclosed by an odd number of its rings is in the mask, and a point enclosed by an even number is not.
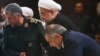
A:
[[[41,22],[23,17],[16,3],[5,7],[8,23],[4,27],[3,56],[41,56],[43,31]]]

